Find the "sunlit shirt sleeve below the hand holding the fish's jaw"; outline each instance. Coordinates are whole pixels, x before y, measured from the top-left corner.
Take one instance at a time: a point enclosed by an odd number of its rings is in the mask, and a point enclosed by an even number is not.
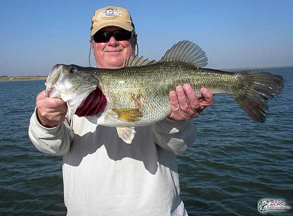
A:
[[[44,127],[37,118],[36,109],[30,119],[28,135],[39,151],[53,155],[66,154],[74,139],[73,130],[66,120],[52,128]]]

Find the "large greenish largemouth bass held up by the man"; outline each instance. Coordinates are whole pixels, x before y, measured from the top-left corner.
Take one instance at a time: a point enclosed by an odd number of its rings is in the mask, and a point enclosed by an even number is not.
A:
[[[265,122],[268,100],[284,88],[282,76],[268,72],[225,72],[203,68],[205,52],[180,41],[159,61],[130,57],[121,69],[58,64],[48,75],[46,96],[67,102],[67,118],[86,116],[97,125],[117,127],[131,143],[134,126],[146,126],[171,113],[169,92],[189,83],[197,96],[202,87],[213,94],[230,94],[257,122]]]

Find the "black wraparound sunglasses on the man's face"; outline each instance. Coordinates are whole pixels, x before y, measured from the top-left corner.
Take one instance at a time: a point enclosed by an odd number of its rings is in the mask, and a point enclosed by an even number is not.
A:
[[[129,40],[134,35],[133,32],[128,32],[126,30],[116,30],[114,32],[97,32],[93,38],[96,43],[108,42],[113,36],[116,40]]]

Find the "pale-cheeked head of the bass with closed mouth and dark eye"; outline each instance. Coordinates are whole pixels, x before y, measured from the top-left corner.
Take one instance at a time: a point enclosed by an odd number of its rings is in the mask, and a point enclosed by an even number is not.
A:
[[[68,119],[71,119],[84,99],[98,87],[98,80],[87,68],[78,65],[55,65],[45,82],[46,97],[61,98],[67,103]]]

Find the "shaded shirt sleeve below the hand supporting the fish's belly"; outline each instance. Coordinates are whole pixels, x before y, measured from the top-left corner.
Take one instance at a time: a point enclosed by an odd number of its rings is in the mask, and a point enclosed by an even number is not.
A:
[[[197,130],[192,120],[164,119],[154,126],[153,139],[160,147],[175,154],[182,154],[195,141]]]

